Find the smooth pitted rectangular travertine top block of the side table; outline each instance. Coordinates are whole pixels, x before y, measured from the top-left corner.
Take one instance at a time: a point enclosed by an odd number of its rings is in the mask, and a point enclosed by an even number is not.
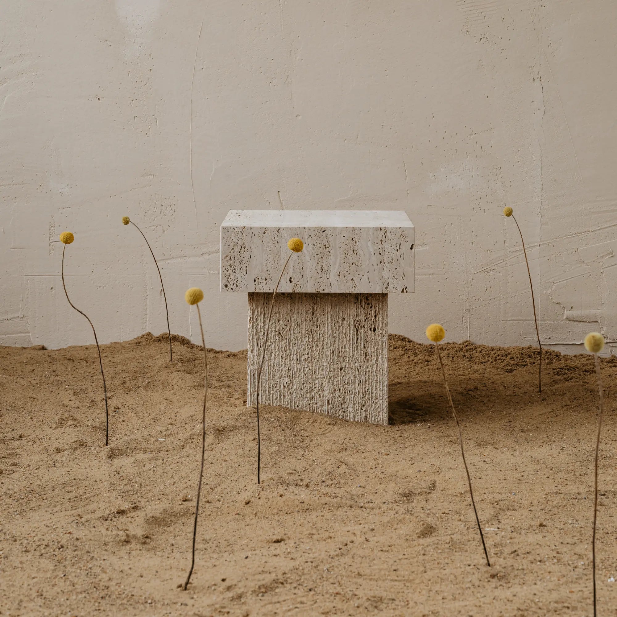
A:
[[[274,291],[300,238],[281,292],[414,291],[412,222],[387,210],[231,210],[221,225],[221,291]]]

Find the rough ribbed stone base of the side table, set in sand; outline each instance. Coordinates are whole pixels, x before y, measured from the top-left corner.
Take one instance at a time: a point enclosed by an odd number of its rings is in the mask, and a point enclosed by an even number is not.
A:
[[[251,406],[272,294],[248,295]],[[259,400],[387,424],[387,294],[277,294]]]

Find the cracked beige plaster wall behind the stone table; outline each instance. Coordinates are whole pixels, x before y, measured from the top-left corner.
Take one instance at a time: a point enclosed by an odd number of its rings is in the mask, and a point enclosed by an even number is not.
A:
[[[402,209],[416,292],[390,330],[617,339],[617,7],[611,0],[7,0],[0,20],[0,343],[165,329],[246,347],[218,292],[230,209]]]

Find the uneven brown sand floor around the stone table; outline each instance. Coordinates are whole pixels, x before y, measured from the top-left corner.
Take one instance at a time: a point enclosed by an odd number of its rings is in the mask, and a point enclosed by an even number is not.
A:
[[[0,615],[592,614],[598,394],[590,355],[442,347],[463,418],[484,563],[434,349],[390,341],[391,426],[264,407],[262,486],[246,352],[209,351],[197,559],[202,351],[151,334],[102,347],[0,347]],[[598,597],[617,615],[617,360]]]

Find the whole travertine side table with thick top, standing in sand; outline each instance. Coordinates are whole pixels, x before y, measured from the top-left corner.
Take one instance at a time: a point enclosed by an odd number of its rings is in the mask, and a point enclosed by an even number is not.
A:
[[[221,225],[221,291],[249,295],[247,404],[287,241],[260,402],[388,423],[387,294],[413,292],[414,229],[400,211],[231,210]]]

